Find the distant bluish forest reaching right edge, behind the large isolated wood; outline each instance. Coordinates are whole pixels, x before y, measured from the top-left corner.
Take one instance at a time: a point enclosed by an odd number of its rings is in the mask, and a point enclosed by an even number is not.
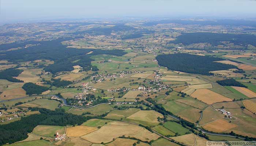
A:
[[[235,45],[253,45],[256,46],[256,35],[249,34],[221,34],[210,32],[193,32],[182,33],[176,40],[170,41],[170,43],[182,43],[184,45],[190,45],[193,43],[210,43],[213,46],[223,45],[222,41],[229,41]]]

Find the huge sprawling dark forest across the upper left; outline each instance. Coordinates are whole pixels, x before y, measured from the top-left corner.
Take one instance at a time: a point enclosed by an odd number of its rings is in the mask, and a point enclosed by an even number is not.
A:
[[[93,59],[90,58],[91,55],[110,54],[121,56],[126,54],[123,50],[68,49],[61,44],[61,42],[70,39],[72,38],[59,38],[52,41],[37,42],[39,44],[37,46],[2,52],[0,53],[0,59],[14,62],[14,64],[38,59],[53,60],[54,64],[46,66],[45,70],[46,72],[55,74],[61,71],[72,71],[74,70],[73,66],[75,65],[79,65],[85,69],[91,68],[91,61],[93,61]],[[93,51],[93,53],[86,54],[90,51]]]

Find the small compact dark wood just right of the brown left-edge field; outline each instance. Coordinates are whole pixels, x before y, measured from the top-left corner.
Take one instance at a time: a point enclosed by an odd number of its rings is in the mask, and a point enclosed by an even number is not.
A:
[[[49,90],[49,88],[47,88],[47,87],[39,86],[32,82],[25,83],[22,86],[22,88],[26,91],[27,95],[42,94],[42,92]]]

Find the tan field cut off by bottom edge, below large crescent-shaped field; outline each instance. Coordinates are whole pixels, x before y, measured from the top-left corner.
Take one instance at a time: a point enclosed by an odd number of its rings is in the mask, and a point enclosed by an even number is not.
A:
[[[136,140],[126,139],[126,138],[117,138],[113,142],[106,144],[107,146],[132,146],[133,143],[136,143]],[[147,143],[140,142],[136,146],[149,146]]]

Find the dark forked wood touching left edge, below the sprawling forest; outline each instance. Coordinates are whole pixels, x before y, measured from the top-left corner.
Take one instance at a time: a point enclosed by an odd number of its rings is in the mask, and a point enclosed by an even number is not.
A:
[[[23,82],[21,80],[13,78],[13,77],[19,76],[19,74],[22,72],[23,70],[20,70],[20,69],[5,69],[0,72],[0,79],[5,79],[10,82]]]

